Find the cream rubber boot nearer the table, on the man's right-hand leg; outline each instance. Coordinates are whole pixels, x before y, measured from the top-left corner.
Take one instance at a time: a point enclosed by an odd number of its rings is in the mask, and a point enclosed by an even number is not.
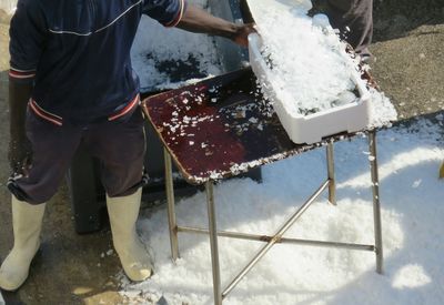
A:
[[[152,274],[151,257],[135,232],[142,189],[123,197],[109,197],[112,241],[127,276],[134,282],[144,281]]]

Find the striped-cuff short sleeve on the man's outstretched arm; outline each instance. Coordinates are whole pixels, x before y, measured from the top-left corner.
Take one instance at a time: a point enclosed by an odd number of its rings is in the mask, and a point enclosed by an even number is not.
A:
[[[186,10],[186,0],[144,0],[143,13],[164,27],[175,27]]]

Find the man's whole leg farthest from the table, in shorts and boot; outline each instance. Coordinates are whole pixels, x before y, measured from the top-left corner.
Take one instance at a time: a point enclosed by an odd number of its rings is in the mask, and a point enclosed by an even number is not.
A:
[[[0,287],[19,288],[28,277],[29,266],[40,246],[44,202],[57,191],[80,141],[73,130],[27,116],[27,135],[32,144],[32,164],[27,175],[8,181],[12,192],[14,244],[0,268]]]

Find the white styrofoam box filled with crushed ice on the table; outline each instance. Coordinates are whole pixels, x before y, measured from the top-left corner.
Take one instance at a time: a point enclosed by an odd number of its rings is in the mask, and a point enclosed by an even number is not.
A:
[[[262,40],[259,34],[249,35],[250,63],[258,80],[262,82],[264,94],[273,103],[282,125],[294,143],[315,143],[322,138],[341,133],[356,132],[369,124],[369,104],[371,95],[361,79],[353,79],[360,92],[356,101],[323,110],[313,114],[294,114],[286,111],[282,101],[276,98],[273,83],[269,77],[272,71],[261,54]]]

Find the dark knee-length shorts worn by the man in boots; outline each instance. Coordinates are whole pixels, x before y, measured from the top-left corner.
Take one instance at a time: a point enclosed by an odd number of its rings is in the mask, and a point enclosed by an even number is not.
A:
[[[9,190],[21,201],[40,204],[51,199],[82,143],[100,161],[101,182],[109,196],[135,192],[143,181],[145,135],[139,106],[119,121],[87,126],[56,125],[28,109],[27,135],[32,162],[27,175],[12,176]]]

